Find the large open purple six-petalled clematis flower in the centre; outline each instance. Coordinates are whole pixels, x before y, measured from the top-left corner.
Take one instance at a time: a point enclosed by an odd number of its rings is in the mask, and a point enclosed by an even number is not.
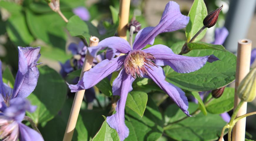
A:
[[[217,61],[218,58],[213,55],[203,57],[181,56],[174,54],[169,47],[164,45],[155,45],[142,50],[147,44],[152,45],[154,38],[159,33],[184,28],[188,22],[189,17],[180,13],[179,5],[170,1],[164,9],[159,24],[155,27],[147,27],[140,30],[132,47],[123,38],[109,37],[99,42],[98,46],[88,48],[92,56],[96,56],[98,51],[106,47],[110,48],[106,54],[106,58],[110,60],[103,60],[94,68],[86,71],[78,84],[69,85],[69,88],[72,92],[91,88],[112,72],[121,69],[113,82],[112,88],[113,95],[120,96],[117,102],[117,112],[107,117],[107,123],[117,130],[120,140],[123,141],[129,135],[129,129],[124,123],[124,108],[127,94],[132,90],[132,82],[137,77],[146,77],[154,80],[181,110],[186,115],[189,115],[185,93],[177,86],[165,81],[164,71],[161,66],[169,65],[178,73],[190,73],[202,68],[206,62]],[[120,53],[125,55],[112,58]]]

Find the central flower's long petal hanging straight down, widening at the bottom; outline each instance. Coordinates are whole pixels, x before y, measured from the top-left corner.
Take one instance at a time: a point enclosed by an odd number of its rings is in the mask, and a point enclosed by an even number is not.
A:
[[[116,79],[118,79],[116,81],[119,81],[121,83],[119,85],[120,88],[118,90],[118,92],[120,92],[120,99],[117,102],[117,113],[107,117],[107,123],[111,128],[117,130],[120,140],[123,141],[129,135],[129,129],[124,123],[124,108],[127,95],[131,88],[132,82],[134,81],[134,78],[132,78],[131,75],[127,75],[127,73],[125,73],[125,71],[122,70],[118,75],[118,78]]]

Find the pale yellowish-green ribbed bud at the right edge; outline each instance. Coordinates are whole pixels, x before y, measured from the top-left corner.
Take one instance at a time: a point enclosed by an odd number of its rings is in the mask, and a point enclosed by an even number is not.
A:
[[[237,89],[238,97],[246,102],[252,102],[256,97],[256,67],[242,80]]]

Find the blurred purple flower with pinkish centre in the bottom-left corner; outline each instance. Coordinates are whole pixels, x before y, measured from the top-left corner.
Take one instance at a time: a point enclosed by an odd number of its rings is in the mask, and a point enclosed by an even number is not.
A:
[[[30,105],[29,101],[23,98],[13,98],[6,105],[1,99],[0,113],[0,139],[4,141],[43,141],[43,137],[21,123],[25,111],[34,112],[36,106]]]

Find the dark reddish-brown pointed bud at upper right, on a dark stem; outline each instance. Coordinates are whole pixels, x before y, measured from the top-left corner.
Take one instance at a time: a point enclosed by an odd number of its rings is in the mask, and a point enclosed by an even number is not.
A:
[[[223,7],[223,5],[220,6],[218,9],[212,11],[205,17],[205,19],[203,21],[203,24],[205,27],[210,28],[216,24],[219,14],[220,14],[220,10],[222,9],[222,7]]]

